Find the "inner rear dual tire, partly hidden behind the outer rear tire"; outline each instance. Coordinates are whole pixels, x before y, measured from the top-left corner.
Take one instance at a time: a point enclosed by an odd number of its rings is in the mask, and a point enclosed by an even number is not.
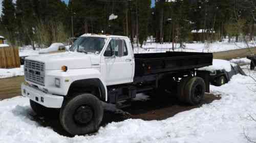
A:
[[[181,79],[180,83],[177,86],[177,98],[181,102],[185,102],[185,95],[184,95],[184,90],[185,90],[185,85],[188,82],[189,79],[192,77],[184,77]]]

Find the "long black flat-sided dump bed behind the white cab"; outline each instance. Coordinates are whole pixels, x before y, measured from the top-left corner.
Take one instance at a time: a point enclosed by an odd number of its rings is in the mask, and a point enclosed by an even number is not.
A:
[[[139,53],[135,57],[135,76],[189,70],[212,65],[212,53]]]

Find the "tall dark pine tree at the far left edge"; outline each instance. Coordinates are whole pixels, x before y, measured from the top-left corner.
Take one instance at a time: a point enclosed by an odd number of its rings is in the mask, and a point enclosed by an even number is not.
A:
[[[4,0],[2,3],[3,9],[2,9],[2,25],[5,28],[5,31],[7,33],[7,38],[11,45],[16,44],[16,20],[15,20],[15,7],[12,3],[12,0]]]

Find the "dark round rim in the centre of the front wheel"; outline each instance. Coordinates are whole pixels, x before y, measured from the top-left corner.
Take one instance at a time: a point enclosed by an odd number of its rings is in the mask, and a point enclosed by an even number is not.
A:
[[[88,124],[93,118],[93,110],[90,106],[82,105],[76,109],[73,117],[78,124]]]

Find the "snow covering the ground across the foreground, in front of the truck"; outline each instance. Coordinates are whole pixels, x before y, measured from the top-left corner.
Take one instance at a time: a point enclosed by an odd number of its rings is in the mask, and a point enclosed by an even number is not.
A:
[[[247,71],[246,71],[247,72]],[[248,74],[248,73],[246,73]],[[256,73],[251,73],[256,77]],[[254,84],[252,84],[254,83]],[[112,122],[92,135],[65,137],[50,127],[32,120],[29,100],[16,97],[0,101],[0,138],[2,142],[247,142],[243,130],[256,140],[255,81],[248,76],[234,75],[215,87],[211,93],[221,94],[220,100],[200,108],[180,112],[161,121],[129,119]],[[250,90],[249,90],[250,89]],[[0,142],[1,142],[0,141]]]

